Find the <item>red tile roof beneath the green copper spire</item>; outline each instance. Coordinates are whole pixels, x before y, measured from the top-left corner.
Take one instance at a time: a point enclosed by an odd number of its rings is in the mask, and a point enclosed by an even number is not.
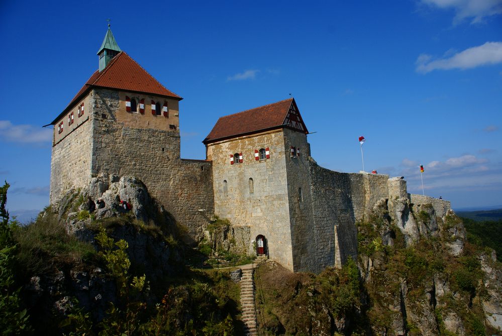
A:
[[[85,82],[82,88],[71,99],[62,113],[51,123],[55,123],[81,99],[82,95],[92,87],[106,87],[123,91],[143,92],[155,95],[183,99],[176,93],[169,91],[160,84],[152,75],[143,69],[124,51],[115,56],[102,72],[96,70]]]

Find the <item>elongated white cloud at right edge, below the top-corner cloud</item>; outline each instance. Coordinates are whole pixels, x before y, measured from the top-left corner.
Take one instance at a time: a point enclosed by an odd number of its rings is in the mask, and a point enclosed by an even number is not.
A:
[[[416,71],[421,73],[433,70],[465,70],[496,63],[502,63],[502,42],[486,42],[481,46],[465,49],[443,59],[433,60],[432,56],[422,54],[415,62],[417,65]]]

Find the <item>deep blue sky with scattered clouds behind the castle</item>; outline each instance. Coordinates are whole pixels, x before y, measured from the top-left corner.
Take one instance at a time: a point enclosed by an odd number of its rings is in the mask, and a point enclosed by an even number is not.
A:
[[[295,98],[322,166],[405,176],[454,208],[502,204],[502,0],[0,3],[0,178],[12,214],[48,204],[50,123],[126,51],[181,95],[181,156],[220,116]],[[28,211],[29,210],[29,211]]]

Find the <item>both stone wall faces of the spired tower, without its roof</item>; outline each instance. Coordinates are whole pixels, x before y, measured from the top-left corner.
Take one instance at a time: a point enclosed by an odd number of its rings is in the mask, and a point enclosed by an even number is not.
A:
[[[214,212],[212,163],[180,158],[176,100],[169,101],[169,118],[143,115],[126,111],[126,93],[91,90],[85,98],[86,118],[64,136],[54,132],[51,203],[66,189],[87,186],[92,177],[132,175],[189,236],[202,237],[206,214]]]

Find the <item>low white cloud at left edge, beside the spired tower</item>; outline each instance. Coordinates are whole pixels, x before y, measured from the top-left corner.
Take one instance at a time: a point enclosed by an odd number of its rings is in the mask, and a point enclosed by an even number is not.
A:
[[[16,143],[48,143],[52,129],[33,125],[14,125],[8,120],[0,120],[0,139]]]

